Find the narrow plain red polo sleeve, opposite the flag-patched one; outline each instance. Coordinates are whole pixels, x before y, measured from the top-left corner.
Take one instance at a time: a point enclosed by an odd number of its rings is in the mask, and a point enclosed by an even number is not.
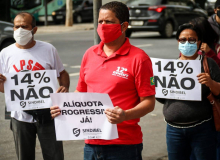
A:
[[[81,67],[80,67],[80,75],[79,75],[79,80],[78,84],[76,87],[76,90],[79,92],[87,92],[87,84],[85,82],[85,63],[86,63],[86,56],[83,56]]]

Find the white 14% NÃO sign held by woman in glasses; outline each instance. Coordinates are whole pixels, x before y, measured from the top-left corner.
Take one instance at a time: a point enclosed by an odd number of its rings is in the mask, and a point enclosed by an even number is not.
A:
[[[151,58],[156,97],[201,101],[200,60]]]

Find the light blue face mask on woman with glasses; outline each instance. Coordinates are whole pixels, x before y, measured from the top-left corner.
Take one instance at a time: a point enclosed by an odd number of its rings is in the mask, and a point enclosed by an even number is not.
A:
[[[179,42],[179,50],[186,57],[192,57],[197,51],[197,42],[196,43],[186,43],[182,44]]]

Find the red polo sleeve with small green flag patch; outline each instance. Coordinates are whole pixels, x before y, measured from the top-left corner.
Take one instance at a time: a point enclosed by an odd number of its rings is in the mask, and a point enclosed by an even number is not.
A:
[[[135,85],[139,97],[155,95],[154,75],[149,57],[137,67]]]

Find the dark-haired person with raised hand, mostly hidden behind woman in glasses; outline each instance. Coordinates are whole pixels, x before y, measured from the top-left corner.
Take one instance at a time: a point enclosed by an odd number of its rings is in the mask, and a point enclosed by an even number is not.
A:
[[[194,27],[199,29],[203,34],[199,54],[205,54],[207,57],[214,59],[220,67],[220,46],[218,44],[219,36],[213,30],[209,21],[204,17],[198,17],[192,19],[189,23],[194,25]]]

